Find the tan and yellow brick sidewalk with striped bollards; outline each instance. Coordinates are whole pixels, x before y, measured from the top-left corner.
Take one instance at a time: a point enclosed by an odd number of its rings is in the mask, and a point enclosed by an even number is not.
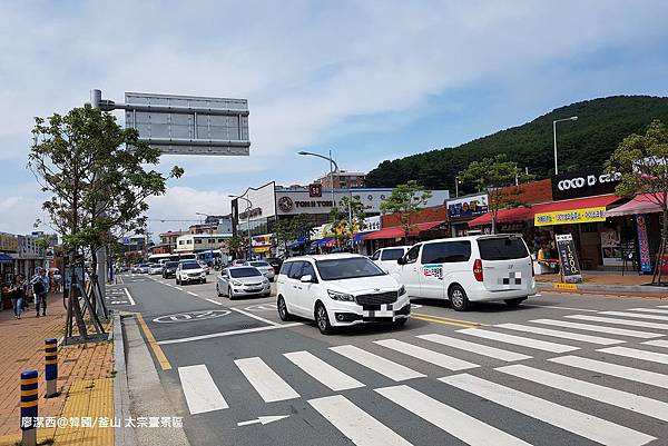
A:
[[[112,343],[105,341],[58,348],[58,390],[46,399],[45,339],[62,337],[66,309],[61,295],[50,295],[46,317],[35,317],[35,305],[20,320],[11,310],[0,311],[0,445],[21,439],[21,371],[39,373],[39,417],[114,417]],[[106,327],[106,330],[110,330]],[[45,427],[38,428],[38,442],[51,439],[56,445],[114,445],[112,428]],[[94,443],[92,443],[94,442]]]

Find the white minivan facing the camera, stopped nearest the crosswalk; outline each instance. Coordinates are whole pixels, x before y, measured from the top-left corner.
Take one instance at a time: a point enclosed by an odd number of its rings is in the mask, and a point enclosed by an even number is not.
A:
[[[371,321],[400,326],[411,314],[404,287],[367,257],[354,254],[285,260],[276,288],[281,319],[294,315],[315,320],[323,335],[332,327]]]

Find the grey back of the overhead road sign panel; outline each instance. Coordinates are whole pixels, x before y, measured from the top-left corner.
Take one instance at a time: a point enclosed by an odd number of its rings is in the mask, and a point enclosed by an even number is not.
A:
[[[126,92],[126,127],[170,155],[247,156],[248,101]]]

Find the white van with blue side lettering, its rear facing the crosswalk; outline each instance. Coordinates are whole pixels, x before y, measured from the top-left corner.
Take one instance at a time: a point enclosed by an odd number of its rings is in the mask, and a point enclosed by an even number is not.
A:
[[[529,249],[519,235],[444,238],[414,245],[392,271],[411,297],[449,299],[463,311],[472,301],[517,306],[536,294]]]

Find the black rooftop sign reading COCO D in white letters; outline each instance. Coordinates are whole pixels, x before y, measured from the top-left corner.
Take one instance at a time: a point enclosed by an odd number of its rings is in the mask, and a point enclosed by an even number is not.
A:
[[[620,178],[619,174],[603,174],[600,170],[559,175],[552,177],[552,199],[559,201],[612,194]]]

